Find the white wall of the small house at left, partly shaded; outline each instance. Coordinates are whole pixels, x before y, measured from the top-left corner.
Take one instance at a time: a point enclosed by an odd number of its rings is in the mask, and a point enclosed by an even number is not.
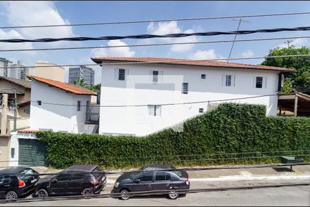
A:
[[[86,101],[90,101],[89,95],[74,95],[38,81],[32,81],[31,87],[31,129],[42,128],[72,133],[83,132],[86,116]],[[37,103],[38,100],[42,101],[41,106]],[[81,111],[77,111],[77,106],[47,104],[62,103],[65,105],[77,105],[78,100],[81,101]]]

